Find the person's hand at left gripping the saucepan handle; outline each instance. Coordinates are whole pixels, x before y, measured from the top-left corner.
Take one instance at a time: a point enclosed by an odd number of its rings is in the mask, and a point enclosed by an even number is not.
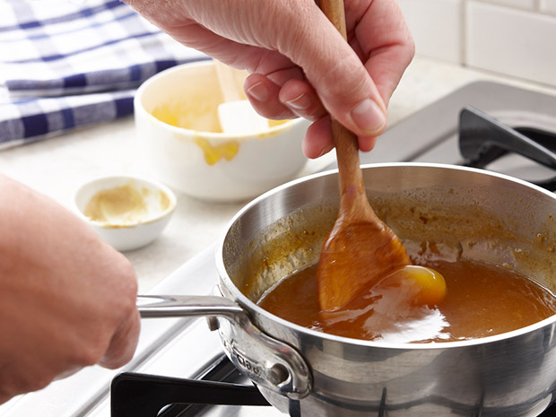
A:
[[[126,257],[2,176],[0,213],[0,404],[85,366],[129,361],[140,325]]]

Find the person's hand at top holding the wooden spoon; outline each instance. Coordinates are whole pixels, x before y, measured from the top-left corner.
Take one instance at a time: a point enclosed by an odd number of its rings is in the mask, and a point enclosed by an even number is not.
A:
[[[250,75],[244,89],[268,118],[306,117],[309,158],[333,148],[328,113],[370,151],[413,58],[395,0],[345,0],[348,43],[315,0],[124,0],[171,37]]]

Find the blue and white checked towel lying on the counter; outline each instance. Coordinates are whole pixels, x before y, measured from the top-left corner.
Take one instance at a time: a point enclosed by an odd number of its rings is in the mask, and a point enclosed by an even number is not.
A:
[[[144,80],[207,58],[118,0],[0,0],[0,149],[130,115]]]

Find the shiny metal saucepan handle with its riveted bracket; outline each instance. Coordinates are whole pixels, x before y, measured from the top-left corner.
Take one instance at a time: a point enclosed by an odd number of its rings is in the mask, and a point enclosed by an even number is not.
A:
[[[309,395],[312,378],[295,348],[258,329],[234,301],[218,296],[143,295],[137,297],[141,317],[196,317],[209,319],[219,330],[230,361],[257,385],[291,399]]]

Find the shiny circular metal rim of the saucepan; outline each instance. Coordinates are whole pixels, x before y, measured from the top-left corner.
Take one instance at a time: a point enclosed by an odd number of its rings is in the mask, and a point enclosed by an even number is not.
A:
[[[554,204],[556,205],[556,195],[554,195],[554,193],[552,193],[552,192],[550,192],[550,191],[548,191],[548,190],[546,190],[542,187],[535,186],[534,184],[531,184],[531,183],[529,183],[525,180],[522,180],[522,179],[519,179],[519,178],[514,178],[514,177],[511,177],[509,175],[502,174],[502,173],[499,173],[499,172],[493,172],[493,171],[489,171],[489,170],[485,170],[485,169],[475,169],[475,168],[469,168],[469,167],[462,167],[462,166],[453,165],[453,164],[430,163],[430,162],[426,162],[426,163],[425,162],[422,162],[422,163],[421,162],[385,162],[385,163],[369,163],[369,164],[362,164],[361,165],[361,169],[381,168],[381,167],[385,167],[385,168],[419,167],[419,168],[456,169],[456,170],[462,170],[462,171],[469,171],[469,172],[473,172],[473,173],[479,173],[479,174],[486,175],[486,176],[506,179],[508,181],[515,182],[515,183],[520,184],[522,186],[532,188],[535,191],[540,192],[540,193],[542,193],[544,195],[547,195],[547,196],[551,197],[552,199],[554,199],[555,200]],[[223,247],[224,247],[224,242],[225,242],[226,236],[228,235],[228,232],[230,231],[231,226],[235,222],[237,222],[238,219],[244,213],[248,212],[249,209],[251,209],[253,206],[258,204],[259,202],[265,200],[270,195],[281,193],[282,190],[284,190],[286,188],[293,187],[297,184],[309,181],[309,180],[314,179],[314,178],[325,177],[325,176],[337,173],[337,171],[338,171],[338,169],[329,169],[329,170],[326,170],[326,171],[323,171],[323,172],[319,172],[317,174],[309,175],[307,177],[298,178],[298,179],[292,180],[288,183],[285,183],[282,186],[275,187],[272,190],[267,191],[265,194],[259,195],[254,200],[252,200],[250,203],[246,204],[231,219],[227,228],[222,233],[221,239],[219,239],[219,245],[216,249],[216,267],[217,267],[218,274],[219,274],[219,284],[223,283],[226,286],[226,289],[228,291],[230,291],[231,296],[234,298],[234,300],[237,303],[239,303],[240,306],[242,306],[242,308],[246,308],[248,310],[248,312],[250,310],[252,310],[257,315],[270,318],[274,322],[280,324],[281,326],[289,327],[292,330],[295,330],[296,332],[299,332],[300,334],[307,334],[308,336],[311,336],[311,337],[317,337],[317,338],[321,338],[321,339],[331,341],[331,342],[336,342],[336,343],[352,344],[352,345],[358,345],[358,346],[369,347],[369,348],[384,348],[384,349],[396,349],[396,350],[457,349],[457,348],[465,348],[465,347],[473,346],[473,345],[483,345],[483,344],[486,344],[486,343],[496,343],[496,342],[505,341],[505,340],[508,340],[508,339],[511,339],[511,338],[514,338],[514,337],[518,337],[520,335],[529,334],[529,333],[534,332],[535,330],[541,329],[545,326],[551,326],[554,323],[556,323],[556,314],[554,314],[551,317],[547,317],[547,318],[543,319],[542,321],[534,323],[533,325],[521,327],[517,330],[512,330],[511,332],[506,332],[506,333],[502,333],[502,334],[495,334],[495,335],[492,335],[492,336],[481,337],[481,338],[478,338],[478,339],[469,339],[469,340],[462,340],[462,341],[456,341],[456,342],[439,342],[439,343],[434,343],[434,342],[433,343],[387,343],[387,342],[375,342],[375,341],[361,340],[361,339],[352,339],[352,338],[349,338],[349,337],[339,336],[339,335],[335,335],[335,334],[327,334],[327,333],[320,332],[320,331],[317,331],[317,330],[311,330],[308,327],[299,326],[299,325],[296,325],[294,323],[291,323],[290,321],[287,321],[287,320],[283,319],[282,317],[275,316],[274,314],[266,311],[264,308],[261,308],[258,305],[256,305],[255,302],[253,302],[252,300],[249,300],[246,295],[244,295],[241,291],[239,291],[239,288],[236,286],[236,284],[231,281],[230,276],[228,275],[228,273],[226,271],[226,268],[224,266]],[[264,330],[264,329],[262,329],[262,330]]]

